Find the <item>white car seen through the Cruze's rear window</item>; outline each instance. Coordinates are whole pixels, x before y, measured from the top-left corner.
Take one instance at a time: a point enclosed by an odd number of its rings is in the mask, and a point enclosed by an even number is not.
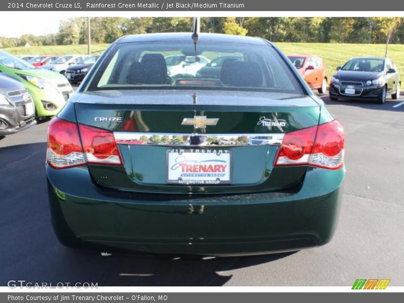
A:
[[[170,55],[165,59],[167,73],[171,77],[180,75],[195,77],[196,73],[210,62],[203,56]]]

